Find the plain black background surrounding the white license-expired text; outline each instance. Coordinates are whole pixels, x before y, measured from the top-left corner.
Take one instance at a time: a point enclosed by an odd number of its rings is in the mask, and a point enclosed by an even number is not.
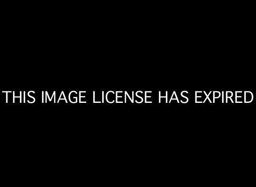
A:
[[[247,7],[42,7],[3,13],[1,91],[152,90],[154,104],[2,102],[5,176],[131,184],[250,178],[255,101],[196,105],[193,96],[255,94]],[[157,91],[183,90],[187,105],[157,104]]]

